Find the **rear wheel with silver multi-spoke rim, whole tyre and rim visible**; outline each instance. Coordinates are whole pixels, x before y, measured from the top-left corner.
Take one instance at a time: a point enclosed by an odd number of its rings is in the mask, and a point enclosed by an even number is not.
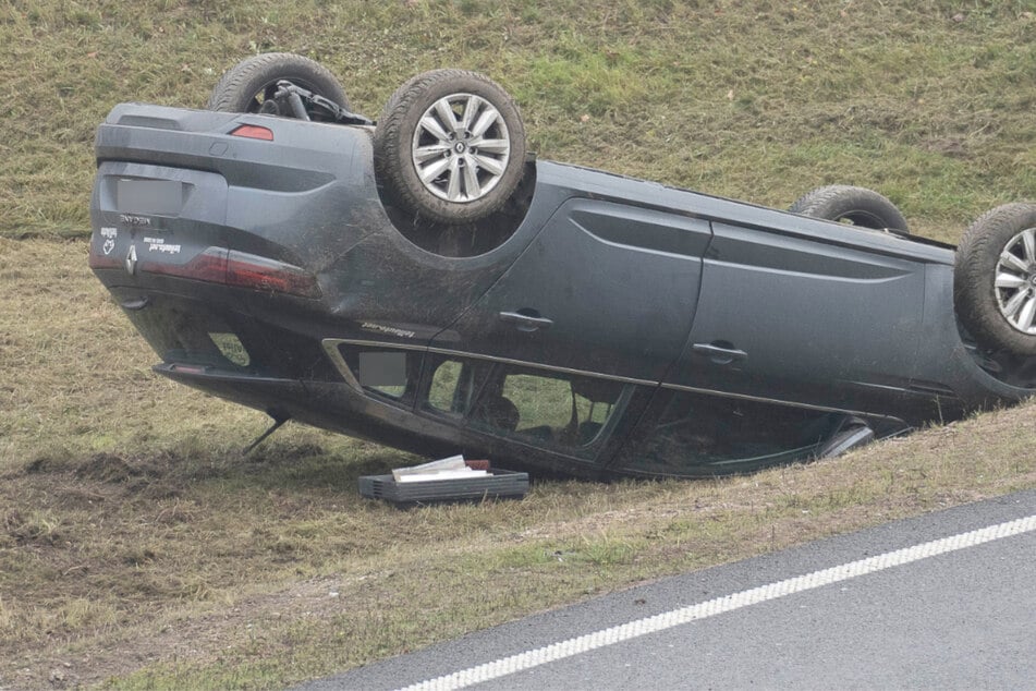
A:
[[[398,203],[440,223],[499,209],[525,170],[525,125],[498,84],[434,70],[403,84],[375,130],[378,179]]]

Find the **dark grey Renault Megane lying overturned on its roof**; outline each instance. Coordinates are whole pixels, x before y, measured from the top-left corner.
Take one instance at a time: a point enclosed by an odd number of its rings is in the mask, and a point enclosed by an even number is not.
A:
[[[781,211],[525,146],[478,74],[418,75],[375,124],[257,56],[209,110],[111,111],[90,267],[167,377],[532,471],[745,472],[1036,391],[1036,205],[955,250],[860,187]]]

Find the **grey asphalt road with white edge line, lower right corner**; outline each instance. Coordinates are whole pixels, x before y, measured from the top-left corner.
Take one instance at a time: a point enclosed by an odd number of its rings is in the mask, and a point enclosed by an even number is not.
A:
[[[529,617],[301,687],[1036,689],[1036,492]]]

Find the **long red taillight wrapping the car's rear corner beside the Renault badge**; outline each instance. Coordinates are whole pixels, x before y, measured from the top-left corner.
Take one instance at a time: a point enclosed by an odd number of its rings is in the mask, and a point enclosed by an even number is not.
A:
[[[141,265],[141,270],[263,292],[288,293],[302,298],[320,296],[316,277],[304,269],[284,262],[222,247],[209,247],[183,265],[145,263]]]

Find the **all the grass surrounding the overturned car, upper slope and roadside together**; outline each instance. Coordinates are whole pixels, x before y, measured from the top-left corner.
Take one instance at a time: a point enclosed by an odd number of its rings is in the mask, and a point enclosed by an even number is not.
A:
[[[489,73],[533,148],[787,206],[873,186],[954,242],[1036,197],[1036,3],[14,0],[0,8],[0,687],[283,687],[593,594],[1036,486],[1033,405],[833,461],[400,511],[415,459],[155,377],[86,269],[92,137],[292,50],[377,116]],[[477,596],[472,596],[475,593]]]

